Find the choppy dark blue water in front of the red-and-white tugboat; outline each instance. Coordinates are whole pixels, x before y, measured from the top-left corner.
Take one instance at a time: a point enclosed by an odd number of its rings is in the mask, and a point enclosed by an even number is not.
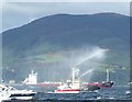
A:
[[[129,87],[102,88],[95,92],[80,92],[80,93],[47,93],[45,92],[45,88],[41,88],[41,89],[36,88],[34,90],[37,91],[37,94],[35,95],[35,100],[38,101],[41,100],[43,101],[44,100],[124,100],[121,102],[132,102]],[[128,99],[131,101],[125,101]],[[53,101],[53,102],[57,102],[57,101]]]

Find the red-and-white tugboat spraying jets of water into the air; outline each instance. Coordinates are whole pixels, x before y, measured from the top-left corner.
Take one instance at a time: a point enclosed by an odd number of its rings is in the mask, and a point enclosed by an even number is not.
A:
[[[79,93],[86,91],[95,91],[98,89],[100,88],[97,86],[92,86],[90,88],[88,87],[82,88],[82,84],[80,84],[80,80],[79,80],[79,69],[73,68],[72,80],[67,80],[66,83],[63,83],[62,86],[57,87],[55,93]]]

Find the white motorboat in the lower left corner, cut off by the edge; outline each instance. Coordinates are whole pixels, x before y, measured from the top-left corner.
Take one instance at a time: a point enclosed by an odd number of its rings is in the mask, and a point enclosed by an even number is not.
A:
[[[32,90],[18,90],[13,87],[0,84],[0,101],[4,100],[31,100],[36,92]]]

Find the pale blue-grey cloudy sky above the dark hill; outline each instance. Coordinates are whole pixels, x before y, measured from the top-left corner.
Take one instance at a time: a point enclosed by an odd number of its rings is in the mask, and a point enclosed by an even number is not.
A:
[[[2,2],[2,29],[0,30],[0,32],[28,24],[38,18],[57,13],[92,14],[100,12],[116,12],[124,15],[130,14],[129,2],[11,2],[18,0],[6,1],[7,2]]]

